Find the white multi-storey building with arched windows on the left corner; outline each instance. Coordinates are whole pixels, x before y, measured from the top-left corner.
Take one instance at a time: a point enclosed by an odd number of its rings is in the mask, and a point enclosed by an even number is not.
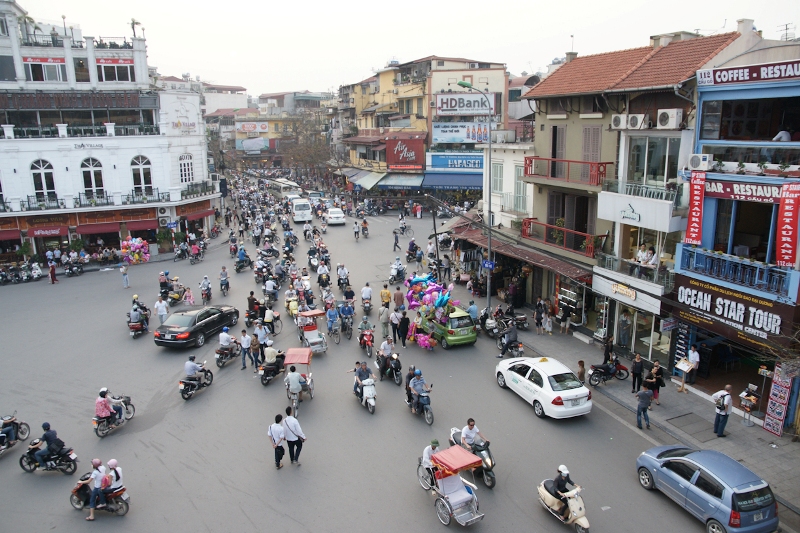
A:
[[[44,38],[25,16],[0,1],[0,248],[118,245],[210,222],[219,193],[199,95],[150,87],[142,37]]]

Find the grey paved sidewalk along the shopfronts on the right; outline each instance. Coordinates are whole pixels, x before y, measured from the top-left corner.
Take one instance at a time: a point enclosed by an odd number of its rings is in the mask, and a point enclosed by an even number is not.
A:
[[[453,293],[453,299],[460,299],[465,308],[470,299],[475,300],[479,309],[486,306],[485,298],[471,298],[463,285],[456,285]],[[492,304],[496,306],[497,303],[493,298]],[[518,338],[527,348],[526,356],[553,357],[575,372],[580,359],[584,360],[587,371],[591,365],[602,363],[603,351],[599,344],[588,345],[571,334],[557,333],[556,325],[552,335],[536,335],[530,310],[524,311],[531,327],[526,331],[519,330]],[[494,358],[497,353],[493,345],[487,355]],[[630,361],[623,359],[622,364],[630,368]],[[615,379],[595,388],[588,385],[588,377],[587,372],[587,386],[592,388],[593,394],[603,394],[628,408],[631,420],[635,421],[637,401],[631,394],[631,378],[625,381]],[[688,446],[718,450],[731,456],[767,480],[778,501],[800,514],[800,445],[792,443],[791,437],[778,438],[758,425],[742,425],[743,419],[741,414],[736,414],[737,410],[725,428],[728,437],[717,438],[713,433],[715,410],[711,397],[693,390],[691,386],[687,386],[689,394],[676,392],[677,388],[677,384],[667,379],[667,386],[660,393],[661,405],[653,403],[650,423]]]

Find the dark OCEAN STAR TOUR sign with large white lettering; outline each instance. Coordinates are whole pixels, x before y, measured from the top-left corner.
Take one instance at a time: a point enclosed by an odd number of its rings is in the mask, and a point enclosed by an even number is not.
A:
[[[795,307],[675,274],[673,315],[726,339],[764,349],[788,346]]]

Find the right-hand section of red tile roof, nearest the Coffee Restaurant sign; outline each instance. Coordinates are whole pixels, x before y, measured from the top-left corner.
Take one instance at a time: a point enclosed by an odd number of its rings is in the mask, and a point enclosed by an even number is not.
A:
[[[649,54],[618,81],[612,90],[675,85],[695,72],[739,38],[739,32],[674,41]]]

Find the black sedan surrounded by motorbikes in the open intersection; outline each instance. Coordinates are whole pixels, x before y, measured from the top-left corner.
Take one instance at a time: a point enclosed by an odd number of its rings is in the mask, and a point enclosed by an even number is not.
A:
[[[232,305],[207,305],[176,311],[153,332],[156,346],[202,346],[225,326],[235,326],[239,310]]]

